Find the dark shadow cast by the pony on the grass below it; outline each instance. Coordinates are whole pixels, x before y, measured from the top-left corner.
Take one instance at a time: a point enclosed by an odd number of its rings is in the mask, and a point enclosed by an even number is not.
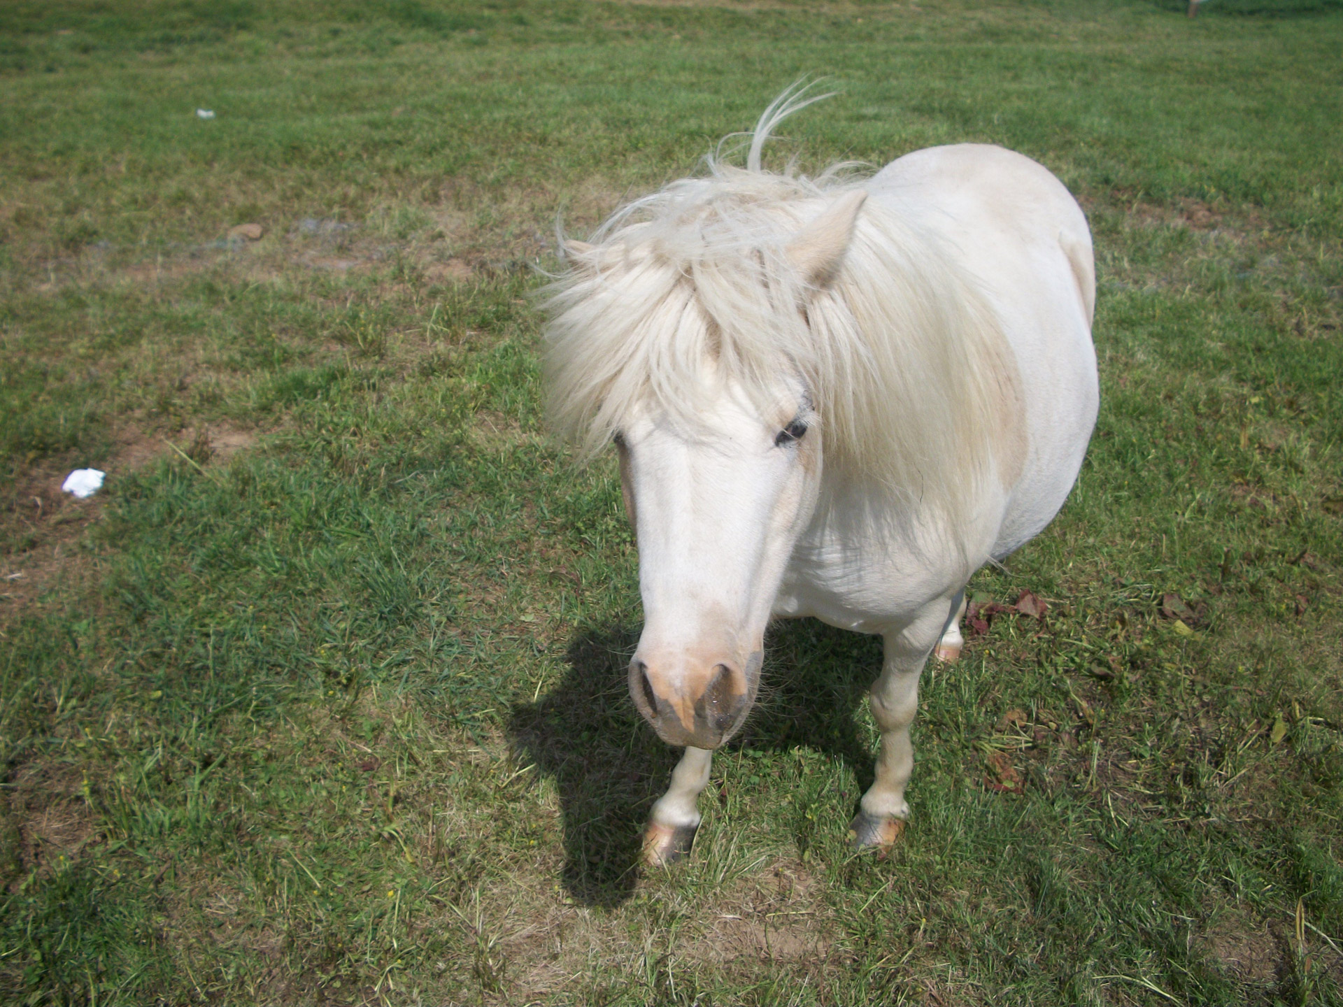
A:
[[[514,706],[509,718],[518,757],[556,781],[561,882],[588,906],[614,908],[633,894],[649,808],[681,756],[630,701],[626,669],[637,642],[638,630],[626,626],[580,632],[560,685],[537,702]],[[873,756],[854,712],[880,669],[874,636],[813,619],[776,623],[766,642],[760,698],[727,751],[807,745],[845,761],[865,789]]]

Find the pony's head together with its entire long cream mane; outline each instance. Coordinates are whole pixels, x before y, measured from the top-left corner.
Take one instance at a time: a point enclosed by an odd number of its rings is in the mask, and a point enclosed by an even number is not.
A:
[[[747,169],[710,158],[565,243],[548,302],[552,423],[580,454],[616,444],[638,538],[630,694],[677,745],[745,718],[823,466],[948,513],[982,467],[974,293],[839,173],[760,171],[799,106],[766,111]]]

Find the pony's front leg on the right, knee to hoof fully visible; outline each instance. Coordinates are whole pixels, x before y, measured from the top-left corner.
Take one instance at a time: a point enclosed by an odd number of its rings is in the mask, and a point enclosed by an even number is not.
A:
[[[950,602],[955,611],[960,599]],[[900,838],[909,818],[905,784],[915,768],[915,748],[909,725],[919,712],[919,675],[928,653],[947,624],[947,604],[929,606],[898,632],[888,634],[881,678],[868,697],[872,717],[881,729],[877,755],[877,779],[858,802],[858,815],[849,826],[849,838],[857,847],[890,846]]]

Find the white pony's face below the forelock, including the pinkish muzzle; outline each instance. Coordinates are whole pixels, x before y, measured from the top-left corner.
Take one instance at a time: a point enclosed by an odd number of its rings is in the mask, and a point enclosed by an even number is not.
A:
[[[819,416],[800,381],[775,391],[761,405],[723,383],[693,428],[649,411],[616,439],[645,614],[630,696],[674,745],[717,748],[745,720],[779,581],[815,509]]]

